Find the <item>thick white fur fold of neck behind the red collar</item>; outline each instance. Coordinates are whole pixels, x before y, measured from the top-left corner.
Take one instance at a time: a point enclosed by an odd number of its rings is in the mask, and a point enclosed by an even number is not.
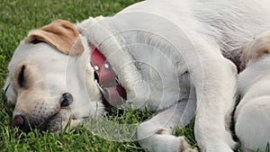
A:
[[[110,63],[114,74],[119,78],[119,84],[126,91],[127,100],[131,99],[134,103],[147,101],[146,84],[141,81],[143,78],[135,66],[134,59],[126,50],[125,40],[119,34],[113,34],[116,31],[110,24],[110,18],[106,18],[105,22],[97,22],[94,18],[89,18],[77,24],[76,28]]]

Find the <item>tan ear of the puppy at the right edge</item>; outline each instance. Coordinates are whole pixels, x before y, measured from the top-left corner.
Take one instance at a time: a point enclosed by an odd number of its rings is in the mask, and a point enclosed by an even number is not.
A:
[[[265,31],[243,46],[241,60],[247,63],[250,59],[268,53],[270,53],[270,31]]]

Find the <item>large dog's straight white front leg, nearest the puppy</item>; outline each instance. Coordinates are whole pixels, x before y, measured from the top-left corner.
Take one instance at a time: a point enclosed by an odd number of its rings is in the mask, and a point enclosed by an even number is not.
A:
[[[229,120],[237,70],[228,59],[212,52],[203,53],[201,66],[190,71],[197,97],[195,139],[203,152],[232,152],[236,143],[230,135]]]

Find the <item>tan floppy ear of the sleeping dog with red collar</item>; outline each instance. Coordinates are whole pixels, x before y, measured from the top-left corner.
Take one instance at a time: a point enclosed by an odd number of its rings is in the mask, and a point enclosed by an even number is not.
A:
[[[38,43],[40,41],[49,43],[66,55],[76,56],[84,51],[79,32],[72,23],[64,20],[51,22],[28,33],[26,42]]]

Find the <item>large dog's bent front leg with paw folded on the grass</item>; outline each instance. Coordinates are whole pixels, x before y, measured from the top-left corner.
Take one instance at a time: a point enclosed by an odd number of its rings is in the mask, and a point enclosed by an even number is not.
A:
[[[149,121],[141,123],[137,130],[140,146],[153,152],[197,151],[196,149],[189,148],[184,137],[175,137],[172,135],[172,131],[179,123],[181,125],[181,123],[184,124],[192,119],[195,110],[195,105],[193,105],[193,103],[195,102],[189,104],[190,102],[191,101],[181,101],[180,103],[176,103],[165,111],[158,112],[157,115]],[[192,106],[188,109],[193,108],[193,113],[190,113],[192,111],[189,111],[186,114],[184,112],[187,108],[186,106]]]

